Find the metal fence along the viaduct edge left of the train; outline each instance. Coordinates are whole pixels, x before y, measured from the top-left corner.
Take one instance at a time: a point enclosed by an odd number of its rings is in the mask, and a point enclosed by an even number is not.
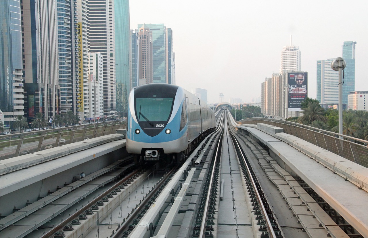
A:
[[[104,122],[1,136],[0,160],[114,134],[126,126],[126,121]]]

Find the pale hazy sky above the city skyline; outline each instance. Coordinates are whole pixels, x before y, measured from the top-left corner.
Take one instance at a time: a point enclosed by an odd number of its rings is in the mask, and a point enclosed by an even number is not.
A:
[[[332,4],[334,3],[334,4]],[[176,84],[208,90],[208,102],[261,96],[261,83],[280,69],[283,46],[301,50],[308,96],[316,97],[316,60],[342,56],[356,41],[355,90],[368,90],[366,1],[131,0],[130,27],[163,23],[173,29]],[[337,85],[336,85],[337,87]]]

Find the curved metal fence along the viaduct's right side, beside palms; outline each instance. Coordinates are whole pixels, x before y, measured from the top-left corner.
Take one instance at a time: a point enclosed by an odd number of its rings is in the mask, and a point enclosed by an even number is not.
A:
[[[299,137],[316,146],[329,150],[341,157],[354,161],[368,168],[368,141],[355,137],[321,130],[311,126],[305,126],[295,122],[270,118],[249,118],[239,122],[241,124],[265,123],[281,127],[284,132]],[[341,137],[341,139],[340,139]]]

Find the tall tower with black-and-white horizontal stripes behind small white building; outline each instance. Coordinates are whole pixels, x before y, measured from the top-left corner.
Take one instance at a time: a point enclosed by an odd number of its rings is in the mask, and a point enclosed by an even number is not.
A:
[[[89,52],[103,57],[104,114],[116,112],[114,0],[86,0]]]

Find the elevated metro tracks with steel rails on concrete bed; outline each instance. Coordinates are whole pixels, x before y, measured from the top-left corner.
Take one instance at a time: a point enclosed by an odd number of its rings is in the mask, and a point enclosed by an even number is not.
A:
[[[89,175],[97,179],[84,178],[85,188],[75,186],[64,196],[74,197],[75,203],[54,210],[38,227],[28,226],[27,237],[318,237],[307,234],[295,215],[296,209],[311,209],[293,206],[294,200],[308,195],[297,179],[265,148],[237,133],[226,113],[216,117],[217,130],[181,164],[160,170],[125,161],[105,168],[104,175]],[[94,192],[81,195],[92,184]],[[56,200],[49,205],[55,209],[60,204]],[[43,210],[46,206],[34,215],[44,215]],[[17,219],[24,223],[31,216],[23,218]],[[24,237],[24,232],[14,235],[14,228],[21,227],[16,222],[0,236]]]

